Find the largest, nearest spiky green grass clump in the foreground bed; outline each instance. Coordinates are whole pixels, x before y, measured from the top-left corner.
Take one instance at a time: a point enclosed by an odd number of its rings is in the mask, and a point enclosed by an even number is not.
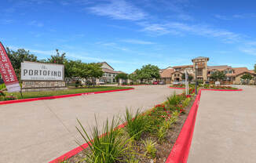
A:
[[[92,136],[89,136],[86,129],[79,122],[81,129],[76,127],[79,131],[82,138],[88,143],[90,152],[86,152],[86,158],[82,161],[89,163],[114,163],[120,161],[120,158],[123,158],[126,154],[127,149],[126,143],[129,142],[129,139],[123,139],[122,136],[119,136],[119,131],[117,126],[119,125],[118,121],[115,121],[115,118],[112,119],[112,122],[109,124],[108,119],[105,122],[103,129],[100,131],[97,120],[96,125],[93,126]]]

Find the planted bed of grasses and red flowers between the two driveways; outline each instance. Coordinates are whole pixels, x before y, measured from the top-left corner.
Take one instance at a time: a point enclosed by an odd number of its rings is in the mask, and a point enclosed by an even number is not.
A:
[[[103,132],[93,126],[92,136],[79,122],[77,129],[89,147],[59,162],[165,162],[194,100],[174,94],[144,113],[126,109],[123,129],[113,118],[105,122]]]

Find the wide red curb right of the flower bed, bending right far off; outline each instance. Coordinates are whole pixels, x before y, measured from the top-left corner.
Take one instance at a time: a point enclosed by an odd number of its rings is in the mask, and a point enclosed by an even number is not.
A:
[[[186,163],[188,161],[188,154],[192,143],[193,132],[196,124],[196,114],[199,107],[201,91],[242,91],[243,89],[200,89],[196,100],[189,111],[179,136],[177,137],[174,147],[170,151],[170,155],[166,163]]]

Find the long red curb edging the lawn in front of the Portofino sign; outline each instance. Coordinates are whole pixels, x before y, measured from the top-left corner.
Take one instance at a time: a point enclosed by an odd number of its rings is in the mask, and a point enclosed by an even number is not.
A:
[[[8,101],[0,101],[0,105],[11,104],[11,103],[24,103],[24,102],[37,101],[37,100],[53,100],[53,99],[71,97],[71,96],[94,95],[94,94],[99,94],[104,92],[119,92],[119,91],[127,91],[127,90],[131,90],[131,89],[115,89],[115,90],[99,91],[99,92],[82,92],[82,93],[69,94],[69,95],[46,96],[46,97],[38,97],[38,98],[32,98],[32,99],[8,100]]]

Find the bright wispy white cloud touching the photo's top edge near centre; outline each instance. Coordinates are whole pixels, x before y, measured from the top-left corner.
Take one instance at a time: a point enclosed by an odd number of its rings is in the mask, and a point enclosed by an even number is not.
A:
[[[111,0],[106,4],[88,8],[91,13],[115,20],[143,20],[147,14],[125,0]]]

